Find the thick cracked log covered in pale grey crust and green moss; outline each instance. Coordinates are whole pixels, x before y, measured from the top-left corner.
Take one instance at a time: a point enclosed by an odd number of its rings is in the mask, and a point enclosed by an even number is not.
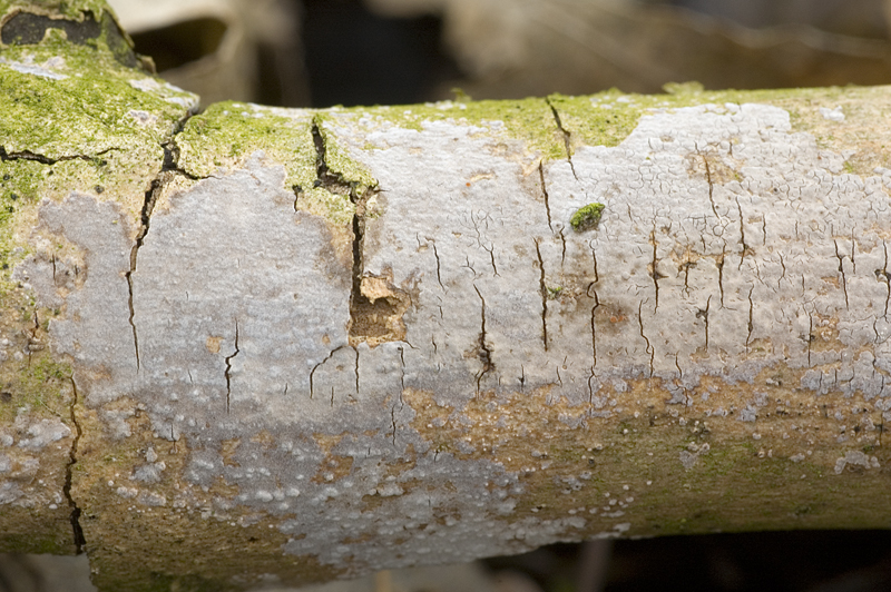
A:
[[[3,550],[222,590],[889,525],[887,89],[198,112],[71,47],[0,56]],[[6,115],[97,80],[121,129]]]

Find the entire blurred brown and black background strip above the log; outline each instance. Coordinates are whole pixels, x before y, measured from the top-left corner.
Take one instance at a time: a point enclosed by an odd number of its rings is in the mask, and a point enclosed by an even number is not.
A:
[[[137,50],[202,95],[410,103],[611,87],[891,82],[884,0],[114,0]]]

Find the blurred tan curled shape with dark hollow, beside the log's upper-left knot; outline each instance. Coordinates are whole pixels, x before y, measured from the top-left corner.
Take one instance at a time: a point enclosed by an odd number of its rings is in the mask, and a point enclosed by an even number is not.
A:
[[[112,0],[137,51],[204,105],[309,105],[298,4],[287,0]]]

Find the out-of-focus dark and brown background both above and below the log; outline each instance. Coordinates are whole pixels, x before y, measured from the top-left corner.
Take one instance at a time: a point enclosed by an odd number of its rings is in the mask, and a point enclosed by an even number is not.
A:
[[[891,0],[111,0],[202,96],[286,107],[891,83]],[[87,592],[86,558],[0,555],[0,592]],[[891,591],[891,532],[589,541],[304,592]]]

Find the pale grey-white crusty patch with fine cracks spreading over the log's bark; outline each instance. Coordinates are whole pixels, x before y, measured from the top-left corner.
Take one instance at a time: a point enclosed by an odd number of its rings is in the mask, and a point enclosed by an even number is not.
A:
[[[88,278],[51,327],[87,404],[134,397],[159,437],[188,442],[183,481],[235,485],[218,511],[280,516],[286,553],[380,569],[518,552],[586,527],[584,514],[513,519],[530,493],[518,472],[434,450],[410,424],[409,391],[460,420],[481,393],[547,387],[587,422],[617,413],[633,379],[659,378],[686,403],[704,376],[751,382],[775,364],[807,368],[801,387],[814,397],[888,394],[891,171],[844,172],[782,109],[653,112],[621,145],[581,147],[540,174],[495,126],[418,131],[351,116],[326,130],[379,182],[362,273],[412,296],[402,342],[350,345],[352,268],[261,155],[153,215],[131,324],[133,240],[114,207],[72,195],[45,205],[38,229],[87,253]],[[595,201],[599,227],[575,231],[571,216]],[[816,347],[820,327],[835,337]],[[126,414],[105,417],[128,434]],[[326,451],[323,435],[340,437]],[[692,468],[708,450],[694,452],[674,456]],[[330,456],[351,460],[345,475],[329,474]],[[167,473],[149,462],[119,494],[168,503],[144,490]],[[621,511],[607,517],[604,532],[634,527]]]

